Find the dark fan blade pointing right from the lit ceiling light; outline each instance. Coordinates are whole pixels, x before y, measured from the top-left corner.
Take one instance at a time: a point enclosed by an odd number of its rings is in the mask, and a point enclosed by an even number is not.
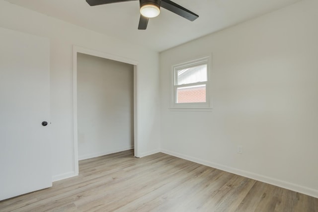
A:
[[[173,1],[170,0],[161,0],[161,7],[174,12],[177,15],[180,15],[190,21],[194,21],[199,17],[199,15],[191,12],[190,10],[180,6],[179,4],[174,3]]]

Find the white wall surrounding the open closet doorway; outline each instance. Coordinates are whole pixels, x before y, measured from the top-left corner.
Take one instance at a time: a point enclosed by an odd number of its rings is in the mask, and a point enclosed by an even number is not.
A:
[[[159,55],[115,38],[0,0],[0,27],[50,39],[53,180],[73,176],[73,45],[139,61],[138,156],[159,151]],[[105,26],[106,27],[106,26]]]

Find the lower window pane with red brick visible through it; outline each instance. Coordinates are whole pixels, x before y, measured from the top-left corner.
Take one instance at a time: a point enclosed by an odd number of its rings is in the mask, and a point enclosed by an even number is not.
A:
[[[176,103],[206,102],[206,85],[177,88]]]

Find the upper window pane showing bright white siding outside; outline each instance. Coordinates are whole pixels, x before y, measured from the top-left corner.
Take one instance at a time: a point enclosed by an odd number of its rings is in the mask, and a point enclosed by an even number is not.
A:
[[[177,70],[177,85],[207,81],[207,65]]]

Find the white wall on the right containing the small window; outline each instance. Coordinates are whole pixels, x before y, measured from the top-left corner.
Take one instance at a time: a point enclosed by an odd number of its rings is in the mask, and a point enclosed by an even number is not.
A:
[[[318,197],[317,11],[300,1],[162,52],[162,151]],[[171,66],[209,53],[213,111],[170,111]]]

